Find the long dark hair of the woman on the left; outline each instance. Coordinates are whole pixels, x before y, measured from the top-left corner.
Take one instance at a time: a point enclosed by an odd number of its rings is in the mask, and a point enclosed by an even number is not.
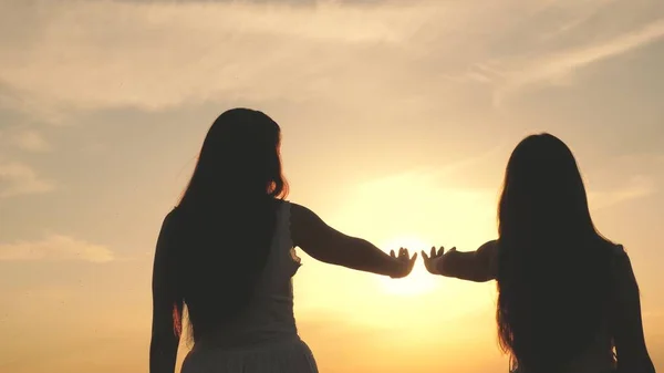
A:
[[[207,133],[194,175],[174,210],[176,301],[191,336],[232,322],[267,262],[278,199],[288,194],[281,131],[268,115],[229,110]],[[181,331],[181,313],[174,325]]]

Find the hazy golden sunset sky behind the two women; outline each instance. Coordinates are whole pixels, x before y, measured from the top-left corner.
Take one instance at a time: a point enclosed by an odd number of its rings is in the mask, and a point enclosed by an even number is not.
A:
[[[559,136],[664,370],[662,65],[660,0],[0,0],[0,371],[146,371],[162,219],[236,106],[281,125],[290,200],[386,251],[496,238],[510,152]],[[300,256],[322,372],[507,370],[495,283]]]

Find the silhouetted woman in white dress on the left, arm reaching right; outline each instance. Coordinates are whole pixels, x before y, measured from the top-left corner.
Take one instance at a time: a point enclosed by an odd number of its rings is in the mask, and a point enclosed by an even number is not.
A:
[[[210,127],[191,180],[163,224],[153,270],[152,373],[173,373],[187,310],[183,373],[313,373],[298,336],[294,247],[326,263],[401,278],[416,256],[386,255],[283,198],[280,128],[247,108]]]

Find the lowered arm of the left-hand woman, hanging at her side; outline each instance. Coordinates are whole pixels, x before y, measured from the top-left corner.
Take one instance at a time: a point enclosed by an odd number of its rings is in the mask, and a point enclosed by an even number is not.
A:
[[[179,344],[179,333],[174,329],[174,311],[183,314],[183,302],[177,301],[175,289],[172,286],[174,272],[172,270],[170,237],[168,219],[164,219],[162,231],[157,240],[155,261],[153,268],[153,323],[152,340],[149,344],[149,372],[174,373]]]

